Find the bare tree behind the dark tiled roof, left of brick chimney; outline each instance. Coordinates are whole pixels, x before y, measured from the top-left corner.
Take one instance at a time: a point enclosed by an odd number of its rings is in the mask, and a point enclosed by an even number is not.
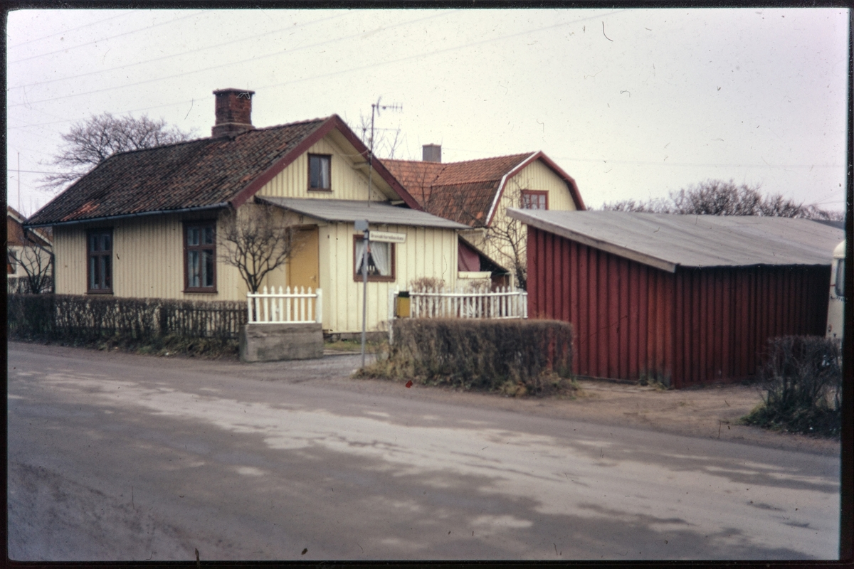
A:
[[[110,113],[93,115],[62,135],[66,144],[49,164],[63,170],[45,176],[41,183],[44,188],[56,189],[76,182],[113,154],[183,142],[190,136],[192,132],[181,131],[167,125],[164,119],[149,119],[144,114],[138,119]]]

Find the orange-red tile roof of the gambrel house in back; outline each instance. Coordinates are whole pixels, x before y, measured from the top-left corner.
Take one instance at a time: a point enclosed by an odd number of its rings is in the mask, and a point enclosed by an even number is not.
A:
[[[477,227],[487,222],[501,178],[532,154],[448,163],[382,161],[424,211]]]

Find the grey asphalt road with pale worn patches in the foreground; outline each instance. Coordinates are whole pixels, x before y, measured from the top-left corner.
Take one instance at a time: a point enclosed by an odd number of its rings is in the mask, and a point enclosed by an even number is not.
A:
[[[378,393],[358,362],[9,344],[9,557],[838,556],[838,457]]]

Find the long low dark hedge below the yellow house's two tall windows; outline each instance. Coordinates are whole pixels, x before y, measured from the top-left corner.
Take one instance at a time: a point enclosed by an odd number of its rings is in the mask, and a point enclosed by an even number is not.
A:
[[[87,343],[171,337],[236,339],[247,321],[239,301],[122,299],[73,294],[8,294],[9,337]]]

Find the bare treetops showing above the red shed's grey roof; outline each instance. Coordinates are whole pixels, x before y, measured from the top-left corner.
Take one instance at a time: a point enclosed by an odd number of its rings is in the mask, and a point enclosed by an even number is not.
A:
[[[733,180],[706,180],[670,192],[668,199],[622,200],[606,203],[603,210],[618,212],[681,213],[690,215],[755,215],[776,218],[841,220],[843,212],[828,212],[816,204],[804,205],[781,194],[763,196],[760,186],[735,185]]]

